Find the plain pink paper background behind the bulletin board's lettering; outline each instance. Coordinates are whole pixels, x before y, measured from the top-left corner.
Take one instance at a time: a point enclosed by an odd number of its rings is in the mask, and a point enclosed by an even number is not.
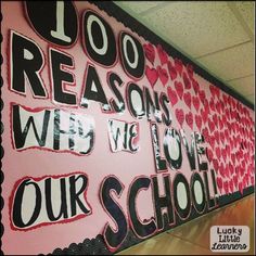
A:
[[[68,246],[71,243],[79,243],[82,242],[86,238],[94,238],[97,234],[101,233],[105,223],[110,221],[112,226],[114,226],[112,219],[104,212],[103,207],[100,203],[99,197],[99,188],[103,179],[107,175],[115,175],[119,178],[119,180],[125,184],[124,193],[121,194],[118,203],[125,209],[127,216],[127,191],[129,189],[129,184],[131,181],[140,176],[145,175],[150,177],[151,175],[156,175],[155,172],[155,164],[153,156],[153,146],[151,141],[151,132],[150,132],[150,123],[146,118],[143,118],[139,121],[140,126],[140,151],[136,154],[130,154],[127,152],[112,153],[110,150],[108,135],[107,135],[107,119],[116,118],[126,120],[128,123],[136,121],[136,119],[130,115],[128,107],[126,105],[126,111],[123,115],[118,114],[103,114],[100,108],[100,104],[97,102],[91,102],[88,108],[81,108],[78,106],[76,111],[80,113],[85,113],[94,117],[95,120],[95,142],[94,149],[91,155],[89,156],[77,156],[71,153],[55,153],[49,152],[44,150],[26,150],[23,152],[17,152],[12,148],[11,143],[11,129],[10,129],[10,103],[15,102],[31,108],[35,107],[61,107],[64,110],[71,110],[68,107],[63,107],[60,105],[54,105],[51,100],[38,100],[34,99],[30,91],[27,90],[27,95],[18,95],[9,90],[9,78],[8,78],[8,66],[9,66],[9,30],[13,29],[18,34],[22,34],[34,41],[36,41],[40,48],[42,49],[46,56],[46,66],[42,71],[42,78],[44,85],[50,92],[50,78],[49,78],[49,43],[41,39],[34,29],[29,26],[24,12],[23,2],[2,2],[2,35],[3,35],[3,43],[2,43],[2,55],[3,55],[3,66],[2,66],[2,77],[4,81],[4,86],[2,88],[2,99],[4,102],[4,108],[2,111],[2,121],[4,124],[4,132],[2,137],[2,144],[4,149],[4,157],[2,161],[2,169],[4,172],[4,182],[2,184],[2,196],[4,199],[4,207],[2,210],[2,222],[4,225],[4,233],[2,238],[2,249],[5,254],[38,254],[38,253],[51,253],[54,248],[61,247],[64,248]],[[113,28],[116,40],[118,40],[118,34],[120,30],[125,30],[131,33],[129,28],[125,27],[123,24],[118,23],[114,17],[110,17],[106,13],[99,11],[92,4],[87,2],[75,2],[75,5],[78,11],[79,16],[79,25],[82,12],[88,8],[97,11],[100,15],[102,15],[105,21]],[[131,33],[135,37],[139,38],[141,43],[145,43],[146,41]],[[59,48],[60,49],[60,48]],[[91,63],[97,67],[97,71],[101,77],[102,85],[104,87],[104,91],[106,93],[107,99],[113,97],[113,93],[110,87],[106,84],[106,74],[107,72],[115,72],[118,74],[121,79],[125,81],[125,85],[120,89],[121,94],[125,95],[126,85],[129,81],[132,81],[126,73],[124,72],[120,59],[118,59],[117,64],[112,68],[103,68],[97,63],[93,63],[86,55],[85,51],[81,47],[81,28],[78,30],[78,40],[76,44],[71,49],[60,49],[69,55],[74,56],[75,60],[75,69],[71,71],[74,73],[76,78],[76,87],[69,87],[72,91],[77,92],[78,95],[81,94],[84,79],[85,79],[85,71],[87,67],[87,63]],[[156,46],[155,46],[156,50]],[[119,57],[119,56],[118,56]],[[170,61],[174,61],[169,56]],[[146,65],[152,66],[151,63],[146,60]],[[155,67],[161,65],[157,52],[155,59]],[[167,69],[167,66],[164,66]],[[200,88],[205,91],[206,98],[210,99],[209,91],[209,82],[204,78],[194,74],[195,79],[200,84]],[[182,78],[178,78],[177,80],[181,80]],[[144,76],[141,80],[137,82],[141,88],[146,86],[150,88],[149,80]],[[167,87],[174,87],[174,82],[169,79],[166,87],[163,87],[159,79],[154,87],[154,90],[161,92],[164,91],[167,93]],[[193,89],[191,89],[192,95]],[[223,92],[220,93],[221,95]],[[78,98],[79,99],[79,98]],[[236,102],[236,100],[235,100]],[[246,107],[246,106],[243,106]],[[176,108],[183,108],[184,113],[188,113],[189,108],[184,104],[184,102],[179,101],[175,107],[171,107],[171,117],[172,123],[171,127],[179,128],[179,124],[175,116]],[[247,108],[247,107],[246,107]],[[249,113],[249,117],[254,118],[254,112],[247,108]],[[192,113],[195,114],[195,110],[192,107]],[[165,125],[158,125],[159,139],[163,142],[163,135],[165,131]],[[254,129],[254,123],[249,125],[248,129]],[[183,125],[183,129],[187,135],[187,139],[190,141],[190,135],[192,130],[188,127],[188,125]],[[197,127],[194,124],[194,131],[197,130]],[[248,143],[253,145],[254,137],[251,137]],[[252,155],[254,148],[249,148],[247,151],[251,152]],[[163,153],[163,148],[161,149]],[[189,179],[191,176],[191,170],[189,167],[187,154],[182,149],[183,163],[181,167],[182,174]],[[252,163],[253,164],[253,163]],[[68,223],[56,223],[41,228],[37,228],[30,231],[14,231],[10,226],[10,217],[9,217],[9,197],[13,190],[14,183],[22,179],[25,176],[29,177],[42,177],[42,176],[53,176],[53,175],[65,175],[75,171],[86,172],[89,177],[89,187],[87,191],[87,200],[92,206],[92,215],[81,218],[76,221],[72,221]],[[252,169],[252,174],[254,171],[254,166]],[[251,169],[246,168],[245,172],[251,175]],[[168,174],[171,177],[175,176],[176,171],[168,170]],[[252,175],[251,175],[252,176]],[[252,184],[249,181],[245,187]],[[162,188],[161,188],[162,189]],[[239,190],[238,188],[235,190]],[[210,191],[213,188],[210,187]],[[138,197],[138,207],[141,219],[148,219],[153,216],[153,204],[151,203],[151,190],[143,191],[140,193]]]

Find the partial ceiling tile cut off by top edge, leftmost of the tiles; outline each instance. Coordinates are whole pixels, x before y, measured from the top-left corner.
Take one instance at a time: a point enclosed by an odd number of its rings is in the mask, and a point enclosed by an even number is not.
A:
[[[132,11],[133,13],[141,13],[151,8],[156,7],[158,1],[114,1],[116,5],[127,11]],[[130,13],[131,14],[131,13]]]

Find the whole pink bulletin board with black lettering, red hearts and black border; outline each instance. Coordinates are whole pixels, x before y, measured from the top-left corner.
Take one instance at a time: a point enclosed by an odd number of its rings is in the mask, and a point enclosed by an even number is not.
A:
[[[254,192],[252,104],[112,2],[2,5],[2,253],[113,254]]]

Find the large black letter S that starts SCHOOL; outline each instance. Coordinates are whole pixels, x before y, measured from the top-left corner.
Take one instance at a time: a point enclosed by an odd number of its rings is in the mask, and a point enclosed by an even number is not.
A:
[[[116,177],[111,176],[103,181],[100,191],[101,203],[117,226],[117,231],[115,231],[110,223],[106,223],[103,231],[103,236],[108,248],[114,252],[125,240],[128,232],[128,223],[121,207],[112,199],[111,192],[113,190],[117,196],[120,196],[124,185]]]

